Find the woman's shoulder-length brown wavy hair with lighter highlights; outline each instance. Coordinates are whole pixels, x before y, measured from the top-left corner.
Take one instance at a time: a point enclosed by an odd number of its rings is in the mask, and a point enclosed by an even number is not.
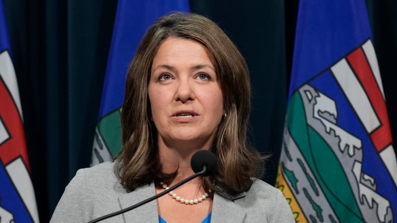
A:
[[[247,141],[250,113],[250,81],[246,62],[228,36],[210,19],[191,13],[173,13],[159,18],[140,41],[129,66],[121,112],[122,151],[115,172],[128,192],[139,186],[176,176],[162,172],[158,133],[151,120],[148,98],[153,58],[169,37],[203,44],[214,56],[214,66],[224,95],[226,116],[219,123],[209,148],[217,157],[217,170],[204,177],[208,191],[237,194],[259,177],[264,158]],[[215,187],[214,185],[215,184]]]

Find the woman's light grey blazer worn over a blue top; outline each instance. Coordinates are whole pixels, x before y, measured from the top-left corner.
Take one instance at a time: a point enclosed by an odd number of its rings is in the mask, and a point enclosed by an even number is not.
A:
[[[143,201],[155,193],[154,183],[127,193],[115,176],[114,163],[111,162],[80,169],[65,188],[50,222],[88,222]],[[157,203],[151,201],[100,222],[159,222]],[[248,192],[238,196],[215,194],[211,222],[285,223],[295,220],[280,190],[256,180]]]

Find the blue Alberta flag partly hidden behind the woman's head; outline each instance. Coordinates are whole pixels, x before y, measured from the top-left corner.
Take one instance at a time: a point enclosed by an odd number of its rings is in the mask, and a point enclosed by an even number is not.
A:
[[[121,150],[120,112],[128,65],[148,28],[173,11],[190,11],[189,0],[120,0],[113,30],[91,165],[110,161]]]

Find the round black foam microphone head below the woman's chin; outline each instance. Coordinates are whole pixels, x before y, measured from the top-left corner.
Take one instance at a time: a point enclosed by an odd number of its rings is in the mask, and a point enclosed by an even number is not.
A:
[[[208,176],[215,171],[216,156],[210,150],[198,150],[191,157],[190,166],[194,173],[202,171],[204,165],[207,166],[207,171],[203,176]]]

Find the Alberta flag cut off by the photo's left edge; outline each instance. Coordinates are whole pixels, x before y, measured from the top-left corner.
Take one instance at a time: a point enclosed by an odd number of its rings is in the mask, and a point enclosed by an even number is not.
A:
[[[0,0],[0,222],[39,222],[2,0]]]

